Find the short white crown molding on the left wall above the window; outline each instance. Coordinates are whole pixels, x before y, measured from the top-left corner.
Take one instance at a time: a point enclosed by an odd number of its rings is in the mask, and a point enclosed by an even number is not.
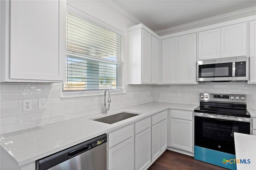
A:
[[[116,11],[118,14],[121,14],[122,16],[124,16],[126,19],[128,19],[130,22],[134,23],[135,25],[142,23],[140,20],[135,18],[129,12],[126,12],[126,10],[124,10],[122,7],[120,7],[118,4],[116,4],[112,0],[101,0],[101,2],[107,5],[108,7],[110,7],[112,10]]]

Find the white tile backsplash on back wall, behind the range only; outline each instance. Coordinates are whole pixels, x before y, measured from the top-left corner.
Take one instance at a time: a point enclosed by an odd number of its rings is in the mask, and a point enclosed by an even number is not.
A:
[[[177,96],[177,91],[181,92]],[[246,82],[154,85],[154,101],[199,105],[199,93],[246,94],[247,108],[256,109],[256,84]]]

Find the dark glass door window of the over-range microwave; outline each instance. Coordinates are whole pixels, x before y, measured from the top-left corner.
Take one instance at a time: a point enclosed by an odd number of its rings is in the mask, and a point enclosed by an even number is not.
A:
[[[232,63],[199,65],[199,78],[232,77]]]

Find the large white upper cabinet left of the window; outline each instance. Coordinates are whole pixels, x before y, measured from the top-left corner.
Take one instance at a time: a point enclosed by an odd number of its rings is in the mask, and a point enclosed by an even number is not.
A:
[[[1,82],[63,82],[66,1],[1,1],[1,8]]]

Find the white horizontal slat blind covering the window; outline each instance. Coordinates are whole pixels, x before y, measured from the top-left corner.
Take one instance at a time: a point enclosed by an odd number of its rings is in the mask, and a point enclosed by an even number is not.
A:
[[[63,91],[122,89],[123,36],[67,12]]]

